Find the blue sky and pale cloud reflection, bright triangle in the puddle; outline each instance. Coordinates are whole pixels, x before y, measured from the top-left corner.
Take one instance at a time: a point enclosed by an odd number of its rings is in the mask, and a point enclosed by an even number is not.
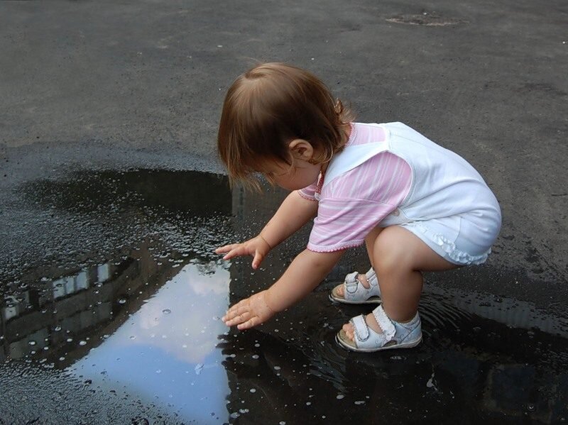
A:
[[[229,272],[214,263],[185,265],[69,370],[158,399],[182,419],[223,421],[229,385],[216,346],[228,330],[219,317],[229,302],[229,281]]]

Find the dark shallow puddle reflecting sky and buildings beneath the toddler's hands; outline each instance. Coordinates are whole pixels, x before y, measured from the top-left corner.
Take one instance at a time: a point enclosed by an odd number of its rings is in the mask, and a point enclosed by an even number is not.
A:
[[[63,247],[69,255],[58,254],[59,263],[40,260],[2,284],[3,388],[23,385],[13,371],[24,365],[35,371],[32,383],[56,374],[75,382],[71,393],[136,399],[136,424],[160,423],[142,414],[148,405],[198,424],[568,419],[568,323],[528,302],[427,285],[422,345],[348,353],[334,335],[368,307],[327,299],[351,268],[347,258],[268,324],[227,329],[219,319],[226,307],[273,282],[302,240],[279,247],[257,272],[212,249],[258,230],[282,192],[258,197],[216,175],[131,170],[38,182],[27,193],[37,214],[83,223],[73,228],[92,244]],[[97,245],[97,232],[116,237]],[[35,417],[0,406],[22,422]]]

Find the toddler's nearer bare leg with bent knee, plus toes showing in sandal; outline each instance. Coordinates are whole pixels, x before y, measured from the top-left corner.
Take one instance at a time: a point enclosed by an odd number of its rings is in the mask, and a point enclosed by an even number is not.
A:
[[[381,288],[383,309],[398,322],[410,321],[416,314],[422,271],[450,270],[459,266],[449,263],[412,232],[400,226],[381,229],[373,243],[373,268]],[[373,314],[366,316],[367,325],[381,332]],[[353,326],[344,324],[346,335],[353,340]]]

